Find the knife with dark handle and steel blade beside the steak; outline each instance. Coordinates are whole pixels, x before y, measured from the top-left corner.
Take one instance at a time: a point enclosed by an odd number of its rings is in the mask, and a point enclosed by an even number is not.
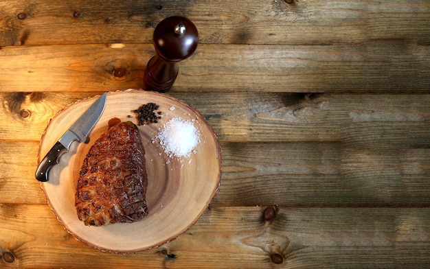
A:
[[[63,153],[69,151],[71,142],[75,140],[81,143],[87,142],[88,134],[93,130],[100,116],[102,116],[104,106],[106,105],[106,97],[107,93],[104,93],[77,121],[75,121],[69,130],[58,139],[41,163],[39,163],[36,169],[37,180],[41,182],[46,182],[48,180],[49,169],[58,163],[58,159],[60,159]]]

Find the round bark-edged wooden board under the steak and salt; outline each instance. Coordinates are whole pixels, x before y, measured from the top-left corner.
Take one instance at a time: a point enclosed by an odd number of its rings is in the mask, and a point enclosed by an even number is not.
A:
[[[98,97],[81,100],[61,110],[49,122],[38,152],[38,161]],[[146,151],[148,215],[139,222],[108,226],[84,226],[75,208],[76,183],[80,166],[89,148],[108,130],[109,120],[133,121],[133,110],[154,102],[162,118],[157,124],[139,126]],[[200,142],[189,157],[170,158],[159,145],[156,135],[166,121],[174,117],[193,120]],[[90,246],[113,253],[133,253],[160,246],[176,238],[194,224],[218,191],[221,174],[219,141],[204,117],[188,104],[162,93],[127,90],[108,93],[106,107],[89,136],[89,143],[73,142],[49,171],[49,181],[41,183],[47,202],[65,229]]]

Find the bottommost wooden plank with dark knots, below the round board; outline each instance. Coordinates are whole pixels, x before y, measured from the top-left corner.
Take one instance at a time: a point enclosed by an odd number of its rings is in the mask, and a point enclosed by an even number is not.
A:
[[[214,207],[168,244],[115,255],[77,242],[47,206],[1,204],[0,242],[3,253],[15,259],[0,263],[2,268],[110,267],[113,261],[115,268],[422,268],[430,262],[429,207],[275,207],[271,220],[264,220],[265,209]],[[282,265],[273,263],[273,254]]]

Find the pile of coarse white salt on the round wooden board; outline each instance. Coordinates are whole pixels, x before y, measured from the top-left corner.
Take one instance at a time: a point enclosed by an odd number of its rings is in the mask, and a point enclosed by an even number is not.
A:
[[[188,157],[200,143],[200,132],[194,126],[194,121],[194,119],[185,120],[175,117],[159,128],[156,138],[170,158]]]

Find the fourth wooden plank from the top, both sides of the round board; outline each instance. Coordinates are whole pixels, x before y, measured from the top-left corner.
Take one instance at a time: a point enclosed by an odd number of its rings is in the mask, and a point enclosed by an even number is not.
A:
[[[221,148],[214,207],[430,205],[428,148],[231,142]],[[46,204],[34,178],[37,151],[37,142],[1,141],[0,165],[8,168],[0,172],[0,203]]]

